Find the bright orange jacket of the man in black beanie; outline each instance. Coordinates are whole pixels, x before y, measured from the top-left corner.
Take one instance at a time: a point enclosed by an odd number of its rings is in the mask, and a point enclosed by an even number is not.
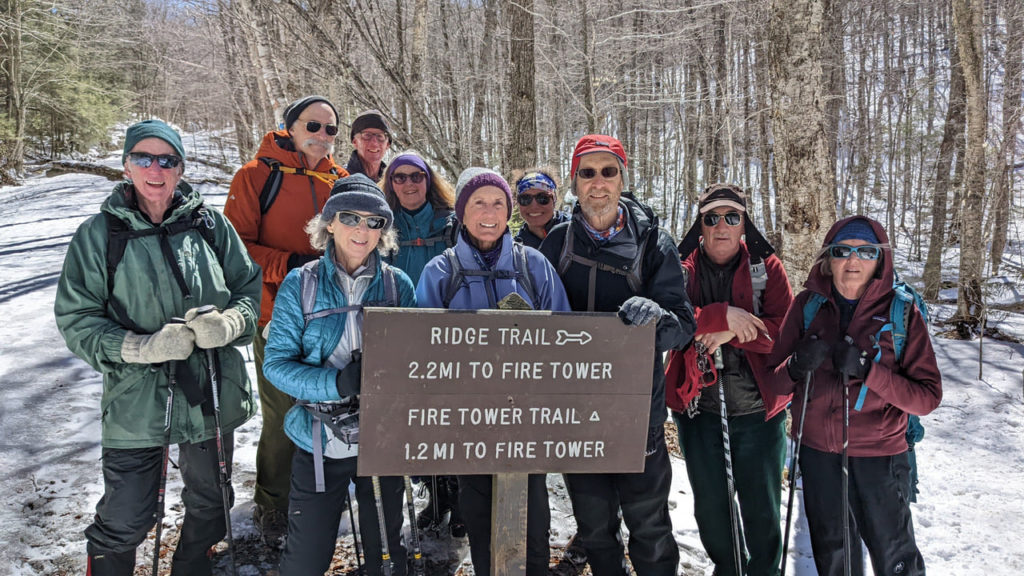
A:
[[[286,130],[267,132],[260,143],[257,158],[271,158],[283,166],[304,167],[302,153],[294,150]],[[328,156],[313,168],[316,172],[334,172],[347,176],[344,168]],[[273,298],[288,274],[288,256],[292,253],[315,254],[305,232],[306,222],[324,209],[331,196],[331,184],[302,174],[283,174],[278,198],[266,214],[260,213],[259,195],[270,175],[270,167],[252,160],[234,174],[231,189],[224,202],[224,215],[234,224],[245,242],[249,255],[263,269],[263,299],[259,326],[270,322]]]

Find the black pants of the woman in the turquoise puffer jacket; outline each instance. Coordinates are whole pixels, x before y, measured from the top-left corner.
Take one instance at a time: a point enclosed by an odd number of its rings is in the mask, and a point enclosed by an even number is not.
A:
[[[366,558],[366,573],[379,576],[381,570],[381,529],[377,520],[373,481],[355,476],[356,457],[324,458],[324,492],[316,492],[313,455],[296,449],[292,458],[292,491],[288,505],[288,539],[281,557],[281,574],[312,576],[331,567],[338,541],[350,483],[355,484],[358,503],[359,539]],[[402,541],[402,498],[406,484],[401,477],[380,477],[384,525],[387,528],[388,552],[394,576],[406,576],[406,547]]]

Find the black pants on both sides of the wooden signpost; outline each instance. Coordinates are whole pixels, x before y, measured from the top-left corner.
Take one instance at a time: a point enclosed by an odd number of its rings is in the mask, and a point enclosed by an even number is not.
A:
[[[526,490],[526,576],[548,573],[548,532],[551,529],[551,508],[548,505],[546,475],[531,474]],[[477,576],[490,574],[490,502],[494,477],[473,475],[459,477],[459,508],[469,535],[469,552]]]

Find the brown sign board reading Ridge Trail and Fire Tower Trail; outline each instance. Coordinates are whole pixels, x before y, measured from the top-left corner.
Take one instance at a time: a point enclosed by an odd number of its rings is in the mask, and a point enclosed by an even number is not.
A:
[[[367,308],[358,474],[642,471],[653,362],[614,314]]]

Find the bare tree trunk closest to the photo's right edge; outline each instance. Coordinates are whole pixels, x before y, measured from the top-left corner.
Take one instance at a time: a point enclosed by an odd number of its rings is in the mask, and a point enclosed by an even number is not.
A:
[[[1007,229],[1010,225],[1010,192],[1014,170],[1017,135],[1020,133],[1021,115],[1021,61],[1024,60],[1024,17],[1019,9],[1005,5],[1007,23],[1007,50],[1002,63],[1005,80],[1002,89],[1002,146],[999,150],[999,172],[995,175],[992,191],[992,248],[989,259],[992,275],[999,274],[1002,250],[1007,247]]]

